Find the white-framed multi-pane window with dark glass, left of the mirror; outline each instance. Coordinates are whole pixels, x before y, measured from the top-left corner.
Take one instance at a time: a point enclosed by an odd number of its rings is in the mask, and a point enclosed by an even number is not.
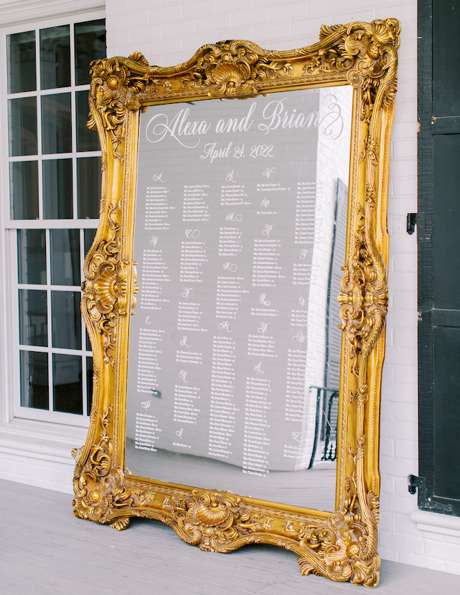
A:
[[[100,203],[89,63],[105,57],[105,21],[93,13],[47,25],[6,34],[10,369],[15,416],[84,425],[92,357],[80,284]]]

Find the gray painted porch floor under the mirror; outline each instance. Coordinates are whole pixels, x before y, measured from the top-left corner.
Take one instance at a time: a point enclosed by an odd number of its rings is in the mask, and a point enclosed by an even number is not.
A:
[[[68,494],[0,480],[0,593],[5,595],[342,595],[369,593],[302,576],[295,554],[188,546],[171,528],[133,520],[125,531],[79,520]],[[457,595],[460,576],[382,562],[379,595]]]

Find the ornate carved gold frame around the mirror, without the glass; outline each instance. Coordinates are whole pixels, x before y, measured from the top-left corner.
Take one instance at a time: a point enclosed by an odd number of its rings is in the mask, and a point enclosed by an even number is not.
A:
[[[187,543],[229,552],[270,543],[299,555],[303,574],[375,587],[378,432],[388,307],[386,212],[397,85],[396,19],[322,26],[316,44],[285,52],[252,42],[205,45],[187,62],[149,67],[136,52],[92,63],[89,127],[102,148],[100,223],[86,256],[82,313],[93,348],[93,406],[75,449],[74,513],[118,530],[131,516],[161,520]],[[348,245],[339,295],[342,373],[336,510],[270,504],[226,492],[130,477],[124,468],[139,113],[161,103],[246,98],[350,84],[353,94]]]

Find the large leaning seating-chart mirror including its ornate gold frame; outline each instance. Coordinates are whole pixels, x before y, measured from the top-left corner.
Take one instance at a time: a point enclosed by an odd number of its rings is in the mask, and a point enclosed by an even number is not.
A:
[[[378,583],[398,43],[389,19],[291,52],[226,41],[171,68],[92,64],[77,516],[162,520],[204,550],[271,543],[304,574]]]

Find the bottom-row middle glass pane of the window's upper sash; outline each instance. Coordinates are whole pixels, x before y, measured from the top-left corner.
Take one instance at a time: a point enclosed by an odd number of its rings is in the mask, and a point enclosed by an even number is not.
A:
[[[73,217],[71,159],[43,161],[43,217]]]

